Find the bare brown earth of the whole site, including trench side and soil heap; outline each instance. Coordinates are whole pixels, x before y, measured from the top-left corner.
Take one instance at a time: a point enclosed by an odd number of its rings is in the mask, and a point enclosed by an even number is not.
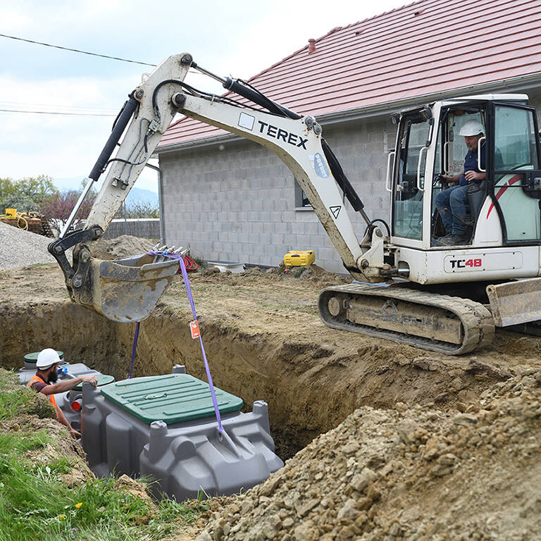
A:
[[[116,242],[101,256],[128,255]],[[190,280],[215,385],[250,409],[268,402],[287,463],[211,502],[182,539],[541,539],[540,338],[498,330],[492,347],[453,357],[332,330],[318,292],[351,278],[317,266]],[[0,296],[1,366],[49,346],[128,375],[135,325],[71,303],[55,264],[0,271]],[[135,375],[180,363],[205,379],[192,318],[177,275],[141,324]]]

